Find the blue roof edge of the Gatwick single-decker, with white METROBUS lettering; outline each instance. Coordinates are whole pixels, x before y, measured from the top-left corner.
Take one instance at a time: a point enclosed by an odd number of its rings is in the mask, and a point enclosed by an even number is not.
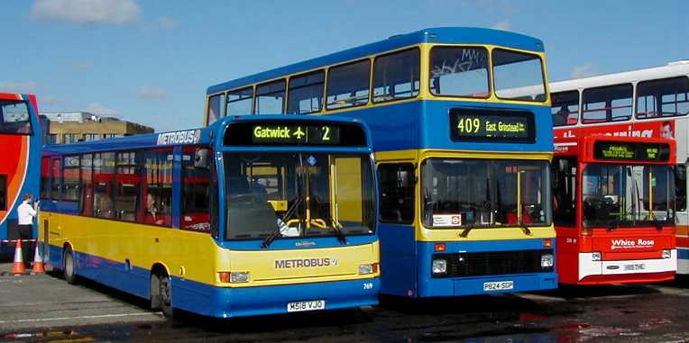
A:
[[[180,131],[166,131],[157,133],[145,133],[128,137],[111,138],[106,140],[82,141],[72,144],[48,145],[43,148],[44,155],[69,155],[86,153],[90,151],[114,151],[127,149],[163,148],[182,145],[206,145],[213,144],[213,137],[222,137],[225,127],[233,122],[329,122],[329,123],[353,123],[363,127],[366,132],[366,141],[371,145],[371,137],[366,125],[353,118],[339,116],[308,116],[289,114],[266,115],[234,115],[214,122],[212,125],[200,128]]]

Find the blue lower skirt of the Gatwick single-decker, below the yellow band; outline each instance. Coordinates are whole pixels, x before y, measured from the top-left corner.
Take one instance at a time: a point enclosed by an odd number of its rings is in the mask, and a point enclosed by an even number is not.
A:
[[[61,267],[62,248],[50,247],[50,263]],[[148,299],[150,270],[74,252],[78,275]],[[216,287],[172,277],[172,306],[212,317],[229,318],[287,312],[288,302],[325,300],[326,310],[378,304],[380,280],[368,279],[257,287]]]

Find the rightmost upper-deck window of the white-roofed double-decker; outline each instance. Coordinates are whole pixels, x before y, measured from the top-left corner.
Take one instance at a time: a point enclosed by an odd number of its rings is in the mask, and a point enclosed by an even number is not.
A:
[[[637,118],[675,117],[689,113],[689,78],[639,82]]]

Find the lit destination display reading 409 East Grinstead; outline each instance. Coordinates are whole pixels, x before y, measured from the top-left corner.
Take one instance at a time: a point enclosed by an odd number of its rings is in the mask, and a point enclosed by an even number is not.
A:
[[[533,114],[450,111],[452,140],[533,140]]]

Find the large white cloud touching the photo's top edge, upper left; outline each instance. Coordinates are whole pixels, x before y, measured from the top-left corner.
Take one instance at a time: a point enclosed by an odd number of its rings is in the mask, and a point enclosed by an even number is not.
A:
[[[36,19],[66,23],[131,23],[141,6],[134,0],[36,0],[30,15]]]

